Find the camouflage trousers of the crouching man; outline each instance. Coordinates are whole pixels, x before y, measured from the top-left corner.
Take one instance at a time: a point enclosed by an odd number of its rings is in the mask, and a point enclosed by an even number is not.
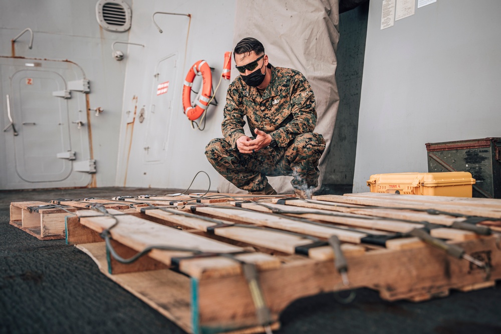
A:
[[[240,189],[262,191],[268,184],[267,176],[292,175],[292,186],[306,190],[318,186],[318,160],[324,150],[322,135],[304,133],[286,147],[268,146],[251,154],[240,153],[224,138],[216,138],[205,147],[205,156],[219,174]]]

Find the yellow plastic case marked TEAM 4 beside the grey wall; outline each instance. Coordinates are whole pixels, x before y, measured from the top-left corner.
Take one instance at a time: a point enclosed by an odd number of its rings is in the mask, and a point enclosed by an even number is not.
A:
[[[468,172],[374,174],[371,192],[405,195],[471,197],[475,179]]]

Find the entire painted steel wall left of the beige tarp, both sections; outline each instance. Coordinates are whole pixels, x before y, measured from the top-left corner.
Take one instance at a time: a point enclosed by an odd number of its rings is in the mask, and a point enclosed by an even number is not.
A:
[[[15,44],[16,56],[67,59],[85,71],[91,86],[89,107],[104,109],[100,116],[91,117],[92,150],[97,161],[95,186],[184,188],[197,171],[204,170],[215,189],[220,176],[207,162],[204,147],[210,139],[221,137],[222,109],[229,82],[221,82],[216,94],[219,105],[209,108],[204,131],[192,130],[184,116],[181,90],[188,68],[200,59],[214,68],[213,85],[218,83],[224,52],[232,49],[234,2],[126,2],[132,8],[132,27],[126,33],[112,33],[103,30],[96,21],[97,0],[63,3],[0,0],[0,55],[12,56],[11,39],[31,28],[33,49],[28,49],[27,33]],[[160,34],[152,20],[155,12],[190,14],[188,40],[188,17],[156,15],[155,21],[163,30]],[[123,61],[116,61],[111,46],[117,41],[144,47],[116,44],[115,49],[125,54]],[[152,110],[156,96],[155,70],[159,60],[171,54],[175,54],[175,71],[169,78],[172,102],[168,111],[158,108],[155,111]],[[140,123],[139,112],[143,108],[145,117]],[[152,112],[163,115],[150,122]],[[163,148],[155,158],[145,154],[145,147],[152,143]],[[5,166],[5,161],[1,165]],[[198,189],[207,186],[204,175],[193,184]]]

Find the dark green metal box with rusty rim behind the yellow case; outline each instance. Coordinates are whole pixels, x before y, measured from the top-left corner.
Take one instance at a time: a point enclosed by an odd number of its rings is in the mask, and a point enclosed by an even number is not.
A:
[[[501,198],[501,138],[427,143],[428,172],[469,172],[473,197]]]

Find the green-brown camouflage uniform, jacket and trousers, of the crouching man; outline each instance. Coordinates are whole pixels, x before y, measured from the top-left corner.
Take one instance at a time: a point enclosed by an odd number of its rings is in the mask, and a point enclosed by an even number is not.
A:
[[[205,155],[219,174],[243,190],[263,190],[267,175],[293,175],[295,189],[317,187],[325,141],[312,133],[317,123],[313,90],[300,72],[269,67],[272,77],[262,96],[240,77],[229,85],[221,124],[224,138],[211,140]],[[278,147],[240,153],[236,140],[244,135],[243,116],[253,134],[256,128],[270,134]]]

